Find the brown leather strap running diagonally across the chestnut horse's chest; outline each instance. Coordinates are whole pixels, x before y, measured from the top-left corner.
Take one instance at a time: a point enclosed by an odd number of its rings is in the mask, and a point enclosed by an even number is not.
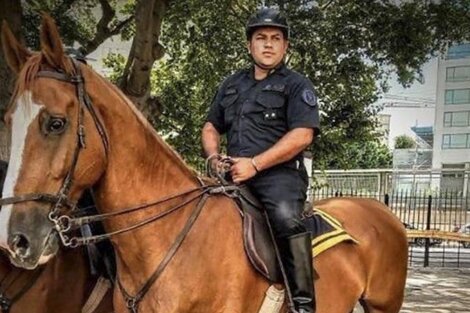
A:
[[[183,243],[184,239],[188,235],[189,231],[191,230],[194,222],[199,216],[199,213],[201,213],[202,208],[204,207],[204,204],[206,203],[207,198],[209,195],[207,193],[204,193],[197,203],[195,209],[191,212],[191,216],[189,217],[188,221],[184,225],[183,229],[181,232],[178,234],[176,237],[175,241],[171,245],[170,249],[166,253],[165,257],[163,260],[160,262],[158,265],[157,269],[155,272],[150,276],[150,278],[147,280],[147,282],[144,284],[144,286],[137,292],[135,296],[131,296],[123,287],[121,284],[119,277],[117,278],[118,286],[119,289],[121,290],[124,298],[126,299],[126,305],[127,308],[129,309],[129,312],[131,313],[137,313],[138,312],[138,306],[139,302],[143,299],[145,294],[149,291],[149,289],[152,287],[152,285],[155,283],[155,281],[160,277],[160,275],[163,273],[165,270],[166,266],[168,263],[170,263],[171,259],[174,257],[176,252],[178,251],[179,247]]]

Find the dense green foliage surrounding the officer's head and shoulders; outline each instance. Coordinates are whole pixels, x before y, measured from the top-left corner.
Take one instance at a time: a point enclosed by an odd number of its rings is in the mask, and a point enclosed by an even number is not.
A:
[[[322,134],[312,148],[317,166],[348,166],[351,147],[375,145],[379,108],[373,103],[386,90],[391,71],[409,85],[430,55],[449,41],[469,38],[468,1],[394,3],[267,1],[280,4],[291,22],[289,66],[313,81],[320,98]],[[154,71],[153,84],[164,110],[154,124],[191,162],[200,155],[200,128],[218,84],[250,64],[244,23],[258,4],[170,4],[161,37],[166,56]]]

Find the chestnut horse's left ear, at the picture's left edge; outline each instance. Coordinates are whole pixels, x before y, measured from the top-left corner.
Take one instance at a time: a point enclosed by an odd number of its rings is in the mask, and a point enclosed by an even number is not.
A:
[[[15,38],[6,21],[2,23],[2,46],[8,66],[15,73],[19,73],[31,52]]]

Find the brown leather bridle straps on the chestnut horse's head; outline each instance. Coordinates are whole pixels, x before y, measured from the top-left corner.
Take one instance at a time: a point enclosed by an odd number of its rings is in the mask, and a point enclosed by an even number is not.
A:
[[[72,186],[73,175],[75,172],[75,168],[77,166],[78,156],[80,155],[80,151],[86,148],[85,127],[83,124],[83,116],[84,116],[85,108],[88,110],[88,112],[90,112],[93,118],[93,121],[96,125],[96,129],[98,130],[98,133],[101,137],[101,141],[103,143],[106,155],[108,154],[108,147],[109,147],[108,137],[106,135],[105,128],[102,122],[100,121],[100,119],[98,118],[98,115],[96,114],[93,104],[88,94],[85,91],[85,80],[83,78],[83,75],[80,69],[80,64],[78,63],[78,61],[76,61],[73,58],[70,58],[70,60],[72,61],[72,64],[75,70],[75,75],[69,75],[63,72],[59,72],[59,71],[54,72],[54,71],[45,71],[45,70],[39,71],[36,74],[36,77],[39,77],[39,78],[41,77],[51,78],[51,79],[56,79],[56,80],[60,80],[63,82],[74,84],[76,93],[77,93],[77,98],[79,102],[78,118],[77,118],[77,145],[74,150],[72,164],[67,172],[67,175],[64,178],[62,186],[60,187],[57,194],[29,193],[29,194],[0,199],[1,206],[6,205],[6,204],[16,204],[16,203],[29,202],[29,201],[51,203],[52,209],[49,212],[49,219],[54,223],[56,228],[59,227],[61,223],[63,223],[63,219],[60,219],[59,217],[60,210],[63,207],[68,207],[72,210],[75,209],[76,207],[76,202],[73,202],[70,200],[70,187]],[[62,238],[65,235],[64,233],[60,231],[59,231],[59,235],[61,236],[62,242],[65,244],[68,238]]]

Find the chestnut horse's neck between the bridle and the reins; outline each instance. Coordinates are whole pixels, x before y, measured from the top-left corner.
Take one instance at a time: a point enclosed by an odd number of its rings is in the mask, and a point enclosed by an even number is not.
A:
[[[130,101],[103,79],[97,84],[103,85],[98,88],[100,94],[109,90],[106,97],[93,99],[110,142],[107,169],[98,188],[106,207],[136,205],[194,187],[197,180],[193,172]]]

